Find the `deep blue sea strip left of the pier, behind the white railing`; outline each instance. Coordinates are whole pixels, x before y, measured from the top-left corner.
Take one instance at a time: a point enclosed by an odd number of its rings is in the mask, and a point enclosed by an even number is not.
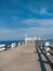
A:
[[[5,49],[10,49],[13,43],[18,46],[18,43],[21,43],[22,45],[23,43],[25,43],[25,40],[0,40],[0,45],[5,45]]]

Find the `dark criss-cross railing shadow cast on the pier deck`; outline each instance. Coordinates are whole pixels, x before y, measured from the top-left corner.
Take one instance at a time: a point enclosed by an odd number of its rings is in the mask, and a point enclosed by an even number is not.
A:
[[[45,50],[42,50],[41,47],[39,47],[38,43],[36,43],[36,52],[38,54],[38,57],[39,57],[38,61],[40,62],[41,71],[47,71],[48,68],[45,68],[45,64],[49,64],[51,71],[53,71],[53,63],[52,63],[52,61],[47,56]],[[50,52],[50,56],[53,57],[53,54],[51,51],[49,51],[49,52]],[[45,60],[42,59],[42,56],[45,58]]]

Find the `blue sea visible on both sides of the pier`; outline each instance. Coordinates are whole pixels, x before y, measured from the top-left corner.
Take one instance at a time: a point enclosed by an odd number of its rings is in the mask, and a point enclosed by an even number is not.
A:
[[[48,39],[48,40],[40,40],[40,43],[45,43],[45,42],[49,42],[50,43],[50,46],[53,47],[53,39]],[[23,43],[25,43],[25,40],[0,40],[0,45],[6,45],[6,48],[10,48],[10,45],[15,43],[16,45],[18,45],[18,43],[21,43],[21,45]]]

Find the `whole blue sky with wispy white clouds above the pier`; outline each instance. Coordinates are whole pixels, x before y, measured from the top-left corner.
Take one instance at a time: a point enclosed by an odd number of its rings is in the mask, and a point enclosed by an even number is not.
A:
[[[0,40],[25,34],[53,34],[53,0],[0,0]]]

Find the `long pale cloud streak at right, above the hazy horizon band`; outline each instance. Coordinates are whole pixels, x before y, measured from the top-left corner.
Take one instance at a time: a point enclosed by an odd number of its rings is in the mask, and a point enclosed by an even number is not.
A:
[[[23,20],[22,23],[27,24],[27,25],[36,25],[38,26],[52,26],[53,25],[53,19],[44,19],[44,20],[39,20],[39,19],[27,19]]]

